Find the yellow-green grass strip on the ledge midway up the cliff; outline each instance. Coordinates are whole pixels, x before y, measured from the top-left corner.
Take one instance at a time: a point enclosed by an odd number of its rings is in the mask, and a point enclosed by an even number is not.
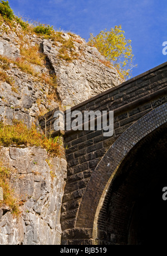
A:
[[[16,122],[14,125],[4,125],[0,122],[0,146],[9,145],[39,146],[46,149],[53,157],[60,155],[61,144],[58,143],[58,137],[46,138],[36,130],[32,125],[28,129],[22,122]]]

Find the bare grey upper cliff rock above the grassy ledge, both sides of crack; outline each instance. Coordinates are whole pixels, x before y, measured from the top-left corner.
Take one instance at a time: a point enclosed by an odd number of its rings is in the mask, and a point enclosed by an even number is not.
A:
[[[46,56],[44,66],[31,64],[35,75],[23,72],[16,64],[11,63],[5,70],[14,80],[14,86],[1,81],[0,85],[0,121],[6,118],[12,124],[13,118],[23,120],[27,126],[32,122],[38,124],[38,116],[60,106],[74,106],[95,96],[106,89],[117,86],[120,77],[115,68],[108,68],[101,61],[104,57],[96,48],[86,44],[77,35],[62,34],[63,39],[73,40],[74,53],[77,58],[70,62],[58,58],[62,44],[53,40],[42,39],[33,34],[22,35],[21,26],[16,32],[3,23],[0,27],[0,56],[16,60],[21,57],[22,41],[25,47],[39,45]],[[0,60],[1,69],[3,61]],[[50,86],[46,81],[37,79],[42,74],[56,74],[57,89],[55,97],[48,98]],[[54,94],[54,93],[53,93]],[[57,101],[58,99],[58,101]]]

